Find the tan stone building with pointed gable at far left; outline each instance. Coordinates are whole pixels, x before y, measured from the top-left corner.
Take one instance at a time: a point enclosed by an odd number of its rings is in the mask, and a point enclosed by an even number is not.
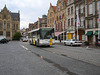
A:
[[[10,12],[6,5],[0,12],[0,36],[12,40],[14,34],[20,31],[20,12]]]

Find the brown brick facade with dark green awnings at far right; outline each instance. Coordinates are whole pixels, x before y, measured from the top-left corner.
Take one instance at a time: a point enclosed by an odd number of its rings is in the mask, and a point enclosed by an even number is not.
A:
[[[99,0],[85,0],[85,19],[86,19],[86,41],[90,44],[94,44],[98,39],[98,27],[99,24]]]

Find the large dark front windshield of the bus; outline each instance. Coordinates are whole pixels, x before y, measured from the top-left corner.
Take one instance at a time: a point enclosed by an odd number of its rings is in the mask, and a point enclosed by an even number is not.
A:
[[[53,28],[43,28],[40,30],[40,39],[50,39],[54,38]]]

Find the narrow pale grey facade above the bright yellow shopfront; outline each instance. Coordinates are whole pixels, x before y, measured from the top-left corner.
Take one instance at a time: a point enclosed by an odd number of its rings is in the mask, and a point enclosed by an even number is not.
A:
[[[75,39],[75,4],[74,0],[67,2],[67,39]]]

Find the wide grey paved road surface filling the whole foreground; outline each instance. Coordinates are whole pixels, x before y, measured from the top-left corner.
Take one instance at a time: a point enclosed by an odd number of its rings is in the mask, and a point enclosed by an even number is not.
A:
[[[99,58],[94,49],[9,42],[0,44],[0,75],[100,75]]]

